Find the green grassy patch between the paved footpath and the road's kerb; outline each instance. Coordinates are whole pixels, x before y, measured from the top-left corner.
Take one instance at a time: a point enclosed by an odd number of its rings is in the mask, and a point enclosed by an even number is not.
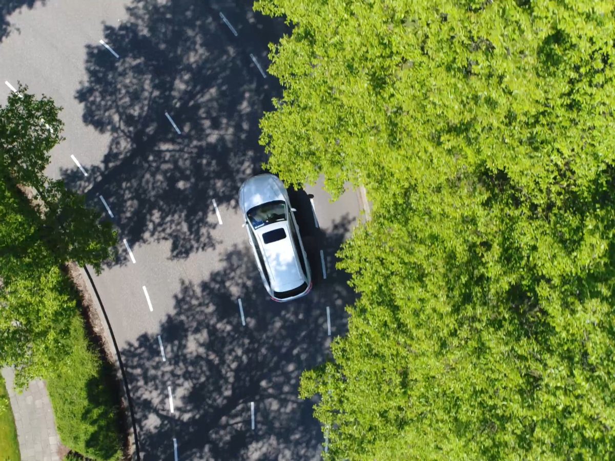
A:
[[[47,376],[55,422],[62,443],[95,460],[122,459],[121,423],[117,394],[110,382],[110,366],[89,341],[76,312],[66,366]]]

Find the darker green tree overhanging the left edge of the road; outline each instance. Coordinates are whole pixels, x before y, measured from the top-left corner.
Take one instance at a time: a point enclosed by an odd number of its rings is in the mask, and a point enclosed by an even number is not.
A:
[[[32,187],[43,204],[37,210],[42,219],[28,238],[18,241],[22,245],[0,242],[0,256],[19,259],[40,241],[59,264],[76,261],[100,272],[117,240],[111,223],[99,223],[100,213],[87,208],[84,197],[44,174],[49,150],[63,140],[60,110],[47,97],[36,99],[23,85],[0,107],[0,180]]]

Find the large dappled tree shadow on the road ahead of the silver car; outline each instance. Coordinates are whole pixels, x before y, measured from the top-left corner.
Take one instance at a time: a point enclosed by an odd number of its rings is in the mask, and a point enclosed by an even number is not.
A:
[[[243,8],[226,11],[240,18]],[[255,28],[237,23],[235,37],[211,2],[139,0],[127,16],[104,31],[119,58],[89,46],[76,93],[85,124],[109,136],[108,152],[85,166],[87,178],[75,168],[62,176],[91,203],[103,195],[129,242],[170,242],[170,258],[187,258],[220,243],[212,199],[236,209],[240,184],[265,160],[258,122],[279,86],[250,57],[266,68]]]

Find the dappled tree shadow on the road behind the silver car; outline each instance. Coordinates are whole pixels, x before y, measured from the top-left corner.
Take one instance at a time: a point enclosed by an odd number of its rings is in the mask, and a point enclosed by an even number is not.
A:
[[[331,245],[339,246],[351,223],[347,217],[336,223]],[[224,254],[207,280],[182,280],[157,333],[166,361],[157,334],[143,334],[121,352],[143,460],[173,459],[172,438],[180,459],[320,459],[315,401],[299,400],[298,385],[304,369],[325,360],[331,337],[346,333],[344,305],[354,301],[346,281],[339,273],[296,301],[271,301],[247,239]]]

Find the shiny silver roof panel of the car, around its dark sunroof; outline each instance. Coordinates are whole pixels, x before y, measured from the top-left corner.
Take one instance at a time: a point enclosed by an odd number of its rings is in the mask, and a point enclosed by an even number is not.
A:
[[[305,282],[305,275],[301,272],[296,253],[300,249],[295,249],[290,229],[288,229],[288,226],[292,225],[288,221],[278,221],[255,230],[258,244],[263,250],[263,258],[273,291],[292,290]],[[285,238],[276,242],[263,243],[263,234],[280,228],[284,229]]]

